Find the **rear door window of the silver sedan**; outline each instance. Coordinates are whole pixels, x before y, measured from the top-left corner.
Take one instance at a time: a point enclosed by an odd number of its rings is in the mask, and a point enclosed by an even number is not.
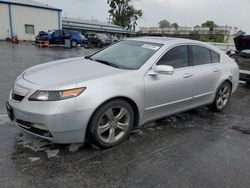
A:
[[[201,46],[191,46],[193,65],[211,63],[210,50]]]

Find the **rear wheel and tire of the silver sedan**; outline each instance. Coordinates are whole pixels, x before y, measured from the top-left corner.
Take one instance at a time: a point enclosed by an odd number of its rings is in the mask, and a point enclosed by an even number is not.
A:
[[[216,92],[215,99],[213,103],[209,106],[210,109],[214,112],[220,112],[224,110],[230,101],[232,93],[231,84],[226,81],[224,82]]]

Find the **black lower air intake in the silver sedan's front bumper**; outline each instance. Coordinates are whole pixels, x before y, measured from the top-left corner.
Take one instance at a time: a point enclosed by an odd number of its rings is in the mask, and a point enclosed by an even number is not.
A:
[[[20,119],[17,119],[16,122],[18,126],[20,126],[21,128],[25,129],[28,132],[31,132],[31,133],[34,133],[36,135],[40,135],[43,137],[52,138],[52,134],[49,131],[38,129],[36,127],[32,127],[33,123],[31,122],[23,121]]]

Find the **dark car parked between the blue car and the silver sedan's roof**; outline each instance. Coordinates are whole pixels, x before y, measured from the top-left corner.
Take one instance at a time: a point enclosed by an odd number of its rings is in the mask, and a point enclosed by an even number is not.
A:
[[[86,35],[91,45],[99,48],[112,44],[112,40],[105,34],[102,33],[91,33]]]

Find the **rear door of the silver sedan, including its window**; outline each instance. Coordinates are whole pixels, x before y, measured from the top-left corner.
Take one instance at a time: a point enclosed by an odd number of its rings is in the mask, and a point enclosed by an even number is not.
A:
[[[220,83],[220,55],[209,48],[198,45],[190,46],[194,72],[192,107],[208,104],[213,101]]]

